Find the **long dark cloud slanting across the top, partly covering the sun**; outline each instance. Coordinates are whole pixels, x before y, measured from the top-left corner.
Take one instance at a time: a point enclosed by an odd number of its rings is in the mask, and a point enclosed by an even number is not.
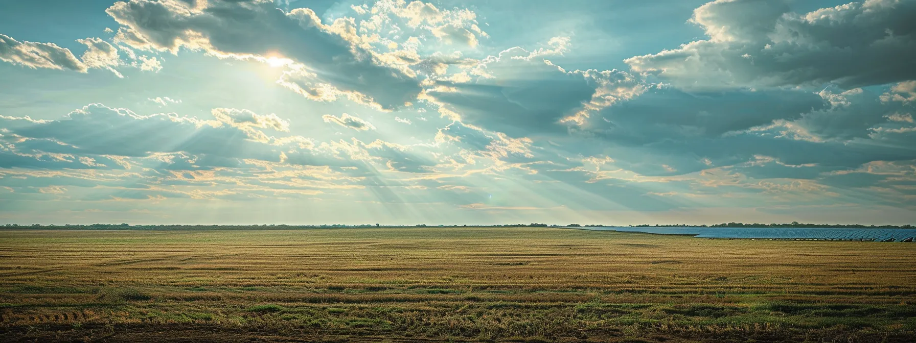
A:
[[[115,39],[132,48],[177,53],[184,47],[223,58],[292,59],[301,66],[295,80],[282,84],[303,95],[332,88],[390,110],[420,92],[418,81],[403,70],[379,65],[345,20],[324,25],[308,8],[284,13],[265,1],[130,0],[106,12],[123,26]]]

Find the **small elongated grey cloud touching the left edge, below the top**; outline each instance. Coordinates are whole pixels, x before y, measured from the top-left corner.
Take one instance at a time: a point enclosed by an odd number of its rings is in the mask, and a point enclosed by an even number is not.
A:
[[[19,42],[4,34],[0,34],[0,60],[32,69],[79,72],[87,69],[69,48],[60,48],[54,43]]]

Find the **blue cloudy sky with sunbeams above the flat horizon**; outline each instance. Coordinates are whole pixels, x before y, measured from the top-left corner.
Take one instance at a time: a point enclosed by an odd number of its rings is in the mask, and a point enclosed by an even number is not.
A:
[[[5,1],[0,223],[914,223],[913,17]]]

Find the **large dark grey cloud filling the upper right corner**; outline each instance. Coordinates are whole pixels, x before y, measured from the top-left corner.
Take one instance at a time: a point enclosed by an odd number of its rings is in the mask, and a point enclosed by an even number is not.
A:
[[[709,39],[627,59],[684,88],[817,85],[916,78],[916,2],[868,0],[792,13],[786,1],[716,0],[693,12]]]

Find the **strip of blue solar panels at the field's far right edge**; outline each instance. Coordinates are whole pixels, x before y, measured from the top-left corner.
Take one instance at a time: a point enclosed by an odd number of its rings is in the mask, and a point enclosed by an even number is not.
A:
[[[634,228],[588,227],[586,230],[615,230],[657,234],[691,235],[715,239],[818,240],[818,241],[914,241],[913,229],[813,229],[813,228]]]

